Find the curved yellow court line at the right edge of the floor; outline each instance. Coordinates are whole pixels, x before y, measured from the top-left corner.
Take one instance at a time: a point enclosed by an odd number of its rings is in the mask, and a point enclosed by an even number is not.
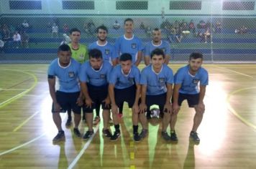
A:
[[[256,125],[253,125],[252,122],[249,122],[248,120],[244,119],[244,117],[242,117],[241,115],[239,115],[239,113],[237,113],[236,110],[234,110],[234,108],[232,107],[232,105],[230,105],[229,100],[230,97],[232,97],[232,95],[234,95],[237,92],[242,92],[243,90],[251,90],[251,89],[256,89],[256,87],[245,87],[245,88],[241,88],[239,90],[234,90],[233,92],[230,92],[228,97],[227,97],[227,108],[230,112],[232,112],[232,114],[234,116],[236,116],[239,120],[241,120],[242,122],[244,122],[245,125],[248,125],[249,127],[252,127],[254,130],[256,130]]]

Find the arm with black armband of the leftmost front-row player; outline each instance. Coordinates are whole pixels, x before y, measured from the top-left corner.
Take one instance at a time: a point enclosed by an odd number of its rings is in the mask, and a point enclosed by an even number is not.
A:
[[[60,105],[57,102],[56,98],[56,91],[55,91],[55,76],[54,75],[48,75],[48,84],[49,84],[49,90],[50,90],[50,97],[52,97],[53,102],[53,108],[55,112],[60,112]]]

